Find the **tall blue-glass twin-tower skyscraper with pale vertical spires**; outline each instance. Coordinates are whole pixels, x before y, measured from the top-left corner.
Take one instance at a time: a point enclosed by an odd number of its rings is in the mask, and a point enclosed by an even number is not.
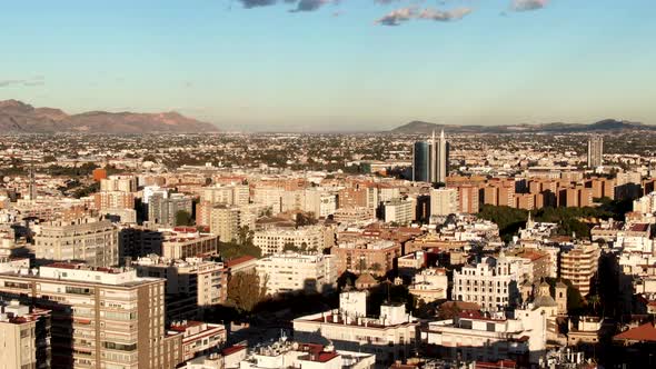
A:
[[[439,139],[435,131],[429,141],[418,141],[413,146],[413,180],[418,182],[446,182],[449,173],[449,142],[444,130]]]

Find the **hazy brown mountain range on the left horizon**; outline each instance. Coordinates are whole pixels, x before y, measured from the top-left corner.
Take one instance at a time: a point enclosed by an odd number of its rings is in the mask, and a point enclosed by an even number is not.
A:
[[[175,111],[160,113],[90,111],[69,116],[59,109],[0,101],[0,132],[9,133],[196,133],[216,132],[213,124]]]

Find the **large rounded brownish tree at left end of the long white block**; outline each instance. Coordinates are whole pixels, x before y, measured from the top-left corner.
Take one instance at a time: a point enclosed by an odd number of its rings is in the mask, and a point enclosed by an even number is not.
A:
[[[256,272],[238,272],[228,281],[228,305],[250,313],[267,295],[267,281]]]

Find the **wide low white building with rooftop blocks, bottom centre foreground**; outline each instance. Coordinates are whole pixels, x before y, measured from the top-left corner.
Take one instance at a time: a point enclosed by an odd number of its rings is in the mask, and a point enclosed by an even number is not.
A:
[[[410,357],[417,342],[419,322],[402,303],[384,303],[380,316],[367,315],[367,293],[348,291],[339,296],[339,309],[294,320],[294,337],[311,342],[322,337],[337,350],[376,355],[378,365]]]

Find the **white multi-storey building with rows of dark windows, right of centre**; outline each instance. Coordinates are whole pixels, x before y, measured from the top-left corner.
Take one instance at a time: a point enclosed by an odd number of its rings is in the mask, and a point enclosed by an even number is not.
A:
[[[486,257],[477,265],[454,271],[451,298],[478,303],[489,311],[501,310],[518,302],[520,283],[530,280],[526,273],[524,261],[518,258]]]

